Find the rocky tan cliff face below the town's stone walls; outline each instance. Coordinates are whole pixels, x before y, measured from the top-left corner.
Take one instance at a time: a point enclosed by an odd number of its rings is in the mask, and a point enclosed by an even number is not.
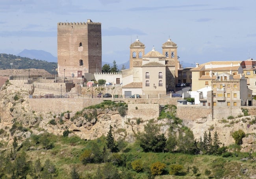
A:
[[[124,138],[128,142],[134,142],[134,134],[142,131],[146,122],[154,118],[154,122],[160,125],[162,133],[167,136],[170,120],[157,120],[157,112],[150,110],[135,111],[137,107],[131,104],[129,118],[122,117],[117,109],[86,109],[83,111],[66,111],[66,112],[38,112],[33,111],[28,99],[28,87],[26,85],[14,85],[6,82],[0,90],[0,137],[11,144],[13,136],[17,136],[19,141],[29,138],[30,135],[39,134],[44,131],[62,135],[63,131],[69,130],[69,135],[77,135],[83,139],[95,139],[102,135],[106,135],[109,131],[109,125],[113,126],[115,139]],[[135,106],[135,107],[134,107]],[[139,106],[139,105],[138,105]],[[150,107],[150,105],[143,105]],[[54,106],[53,106],[54,108]],[[129,110],[129,104],[128,104]],[[137,109],[136,109],[137,110]],[[78,116],[78,113],[82,115]],[[154,113],[154,114],[153,114]],[[88,115],[91,117],[88,117]],[[93,117],[92,117],[93,116]],[[150,116],[146,118],[145,116]],[[219,140],[226,146],[234,144],[232,133],[238,129],[242,129],[246,133],[243,138],[241,151],[256,150],[255,147],[255,116],[239,116],[234,119],[210,119],[198,118],[197,120],[183,120],[183,124],[189,127],[196,139],[203,136],[204,132],[217,131]]]

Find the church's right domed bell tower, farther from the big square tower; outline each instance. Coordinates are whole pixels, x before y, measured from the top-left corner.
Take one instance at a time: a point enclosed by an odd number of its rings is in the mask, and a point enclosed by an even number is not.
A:
[[[165,60],[169,61],[169,64],[175,65],[175,84],[178,83],[178,68],[180,68],[180,63],[178,62],[178,55],[177,55],[177,44],[168,39],[162,45],[163,55],[165,55]]]

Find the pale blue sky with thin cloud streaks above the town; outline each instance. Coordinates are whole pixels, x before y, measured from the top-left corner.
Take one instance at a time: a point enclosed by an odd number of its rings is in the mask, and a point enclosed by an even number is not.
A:
[[[167,39],[180,63],[256,60],[255,0],[0,0],[0,53],[57,57],[58,22],[100,22],[102,61],[129,61],[137,38],[147,54]]]

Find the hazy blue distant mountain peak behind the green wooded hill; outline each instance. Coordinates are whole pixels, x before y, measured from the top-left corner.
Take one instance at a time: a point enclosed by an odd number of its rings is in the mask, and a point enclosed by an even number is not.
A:
[[[49,52],[45,52],[43,50],[23,50],[17,56],[20,57],[27,57],[30,59],[37,59],[37,60],[43,60],[48,62],[57,62],[57,57],[54,57]]]

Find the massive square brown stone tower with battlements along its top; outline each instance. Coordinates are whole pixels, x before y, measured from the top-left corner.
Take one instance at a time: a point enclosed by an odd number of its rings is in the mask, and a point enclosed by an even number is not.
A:
[[[58,74],[82,78],[84,73],[101,72],[101,23],[58,23]]]

